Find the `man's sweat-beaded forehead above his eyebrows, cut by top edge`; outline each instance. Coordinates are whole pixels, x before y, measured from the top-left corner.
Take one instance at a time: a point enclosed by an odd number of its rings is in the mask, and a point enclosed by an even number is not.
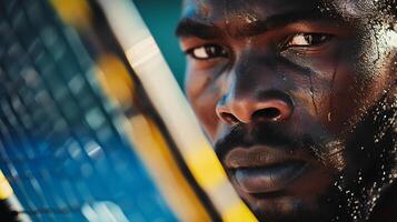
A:
[[[185,0],[183,17],[202,20],[255,19],[289,12],[318,12],[344,18],[368,18],[373,0]]]

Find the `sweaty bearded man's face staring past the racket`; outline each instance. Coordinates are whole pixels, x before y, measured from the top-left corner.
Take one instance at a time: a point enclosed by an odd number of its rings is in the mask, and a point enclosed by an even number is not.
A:
[[[397,22],[385,6],[185,1],[187,95],[259,220],[397,220]]]

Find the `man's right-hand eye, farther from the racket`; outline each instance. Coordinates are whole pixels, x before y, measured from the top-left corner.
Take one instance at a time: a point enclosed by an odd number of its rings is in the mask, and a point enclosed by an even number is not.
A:
[[[297,33],[287,38],[282,48],[286,50],[289,48],[319,47],[322,43],[329,41],[331,38],[333,34],[325,33]]]

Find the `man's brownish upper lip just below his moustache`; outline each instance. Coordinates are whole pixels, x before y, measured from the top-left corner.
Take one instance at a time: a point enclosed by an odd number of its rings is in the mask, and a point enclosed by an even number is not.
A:
[[[229,170],[247,168],[267,168],[290,161],[305,161],[299,151],[289,149],[274,149],[265,145],[250,148],[235,148],[224,159],[225,167]]]

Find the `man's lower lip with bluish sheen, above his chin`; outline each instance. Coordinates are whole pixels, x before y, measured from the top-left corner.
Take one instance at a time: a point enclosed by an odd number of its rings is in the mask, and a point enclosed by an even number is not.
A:
[[[282,190],[302,174],[305,162],[287,162],[274,167],[237,169],[235,179],[246,193],[267,193]]]

